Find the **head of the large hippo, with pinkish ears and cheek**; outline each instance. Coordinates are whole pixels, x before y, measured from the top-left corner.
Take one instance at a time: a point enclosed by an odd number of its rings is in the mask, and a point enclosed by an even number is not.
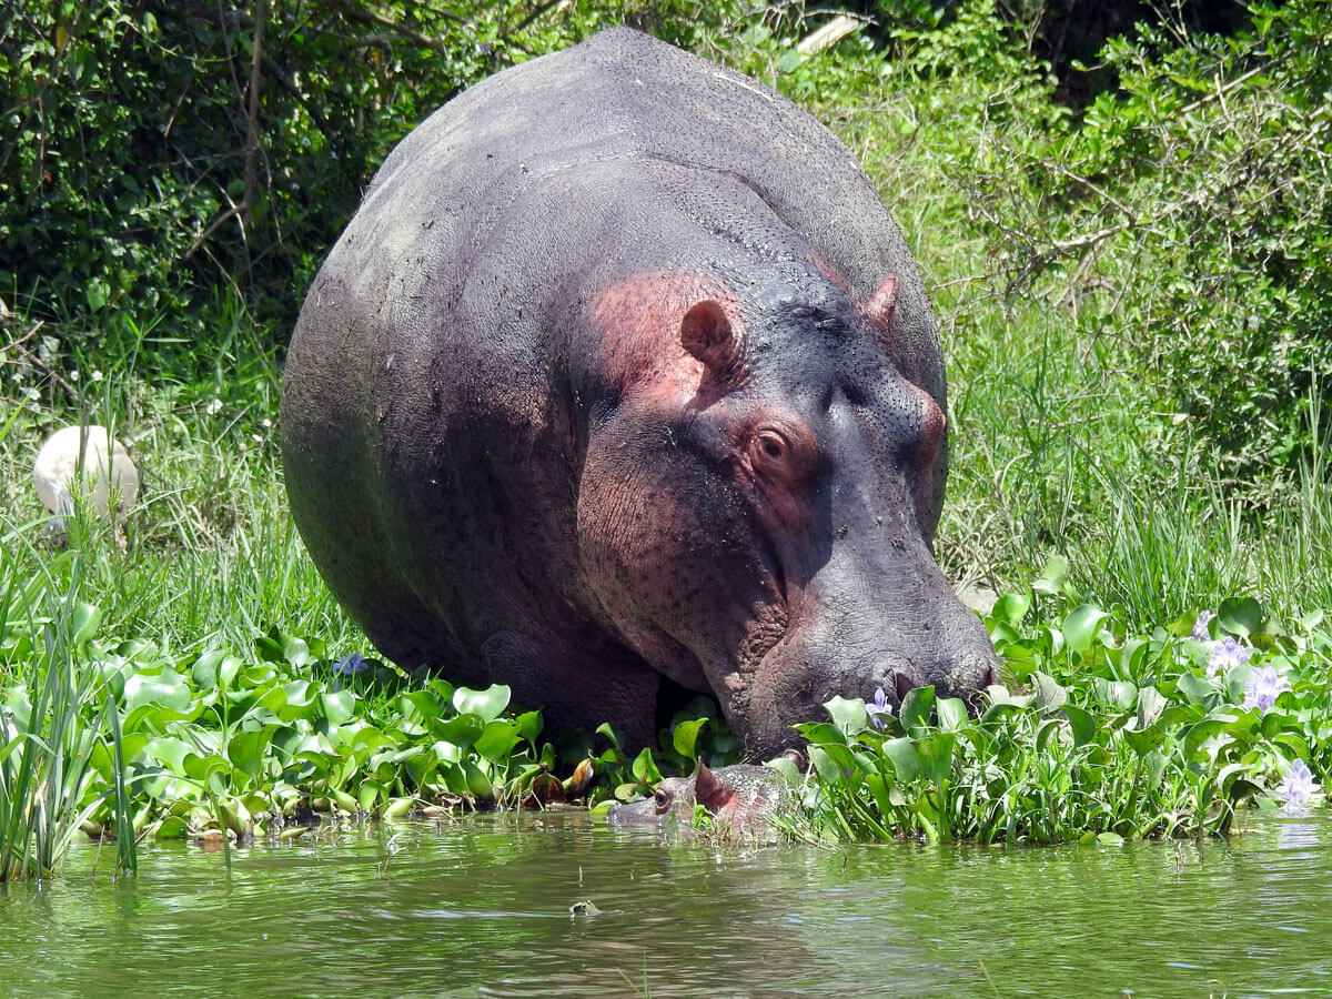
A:
[[[942,376],[935,397],[902,374],[896,280],[864,304],[814,265],[626,284],[594,317],[618,324],[602,370],[623,384],[579,500],[610,627],[710,686],[751,758],[797,742],[790,726],[834,695],[974,699],[996,682],[931,551]]]

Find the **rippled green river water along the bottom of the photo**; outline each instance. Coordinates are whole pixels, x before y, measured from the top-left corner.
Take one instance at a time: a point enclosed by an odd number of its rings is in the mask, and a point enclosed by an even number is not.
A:
[[[547,813],[322,832],[230,868],[155,844],[115,883],[96,863],[0,886],[0,996],[1332,996],[1325,818],[718,850]]]

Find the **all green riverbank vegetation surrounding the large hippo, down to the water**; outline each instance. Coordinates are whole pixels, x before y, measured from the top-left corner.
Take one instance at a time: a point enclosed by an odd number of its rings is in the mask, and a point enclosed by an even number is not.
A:
[[[778,87],[866,164],[947,354],[938,554],[1008,594],[988,625],[1012,693],[974,719],[923,691],[891,719],[834,703],[806,733],[795,831],[1197,835],[1245,802],[1315,805],[1332,766],[1325,5],[1212,23],[1184,4],[1099,33],[1076,3],[935,7],[860,5],[826,47],[832,15],[802,5],[627,11]],[[119,832],[131,870],[131,829],[597,799],[734,751],[701,706],[655,761],[551,745],[502,689],[378,663],[304,554],[277,458],[285,340],[376,164],[458,89],[625,16],[0,15],[5,876],[56,868],[76,834]],[[85,517],[68,550],[41,538],[31,462],[80,421],[144,474],[125,551]],[[1213,670],[1216,649],[1248,655]],[[1245,706],[1257,682],[1272,701]]]

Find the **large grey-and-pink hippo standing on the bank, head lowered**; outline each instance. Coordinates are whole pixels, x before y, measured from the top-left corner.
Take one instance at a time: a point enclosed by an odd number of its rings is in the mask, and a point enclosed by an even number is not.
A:
[[[995,681],[932,555],[946,410],[851,153],[617,28],[393,149],[305,298],[281,434],[305,545],[388,658],[626,746],[711,693],[757,759],[835,694]]]

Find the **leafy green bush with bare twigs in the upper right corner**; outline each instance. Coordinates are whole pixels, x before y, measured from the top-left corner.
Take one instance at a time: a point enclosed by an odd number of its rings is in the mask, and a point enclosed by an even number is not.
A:
[[[1142,25],[1102,53],[1119,87],[1051,148],[976,164],[1006,293],[1058,274],[1072,321],[1243,474],[1293,466],[1332,369],[1327,17],[1256,7],[1252,29],[1187,44]]]

